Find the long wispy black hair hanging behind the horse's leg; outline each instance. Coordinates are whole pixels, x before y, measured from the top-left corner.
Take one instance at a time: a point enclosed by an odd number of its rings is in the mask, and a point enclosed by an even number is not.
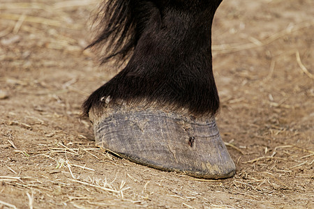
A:
[[[94,20],[98,34],[87,48],[106,47],[101,63],[119,56],[124,60],[136,47],[153,3],[140,0],[106,0]]]

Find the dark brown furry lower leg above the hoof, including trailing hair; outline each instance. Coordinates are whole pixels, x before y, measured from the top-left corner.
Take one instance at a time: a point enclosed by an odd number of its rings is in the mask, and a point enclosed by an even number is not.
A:
[[[158,102],[214,115],[219,98],[211,66],[211,23],[220,0],[109,0],[98,36],[103,63],[130,54],[126,67],[92,93],[84,114],[101,98],[136,104]]]

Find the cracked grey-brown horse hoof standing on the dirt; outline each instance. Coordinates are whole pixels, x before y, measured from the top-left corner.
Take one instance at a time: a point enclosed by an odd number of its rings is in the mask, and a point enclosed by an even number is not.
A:
[[[89,116],[96,145],[133,162],[199,178],[235,173],[213,117],[126,105],[91,109]]]

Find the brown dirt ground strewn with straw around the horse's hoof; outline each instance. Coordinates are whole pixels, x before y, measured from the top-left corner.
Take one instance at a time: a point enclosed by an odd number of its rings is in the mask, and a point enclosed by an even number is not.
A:
[[[314,1],[224,0],[218,127],[233,178],[202,180],[94,146],[85,98],[117,68],[82,49],[96,0],[0,1],[0,208],[314,208]]]

